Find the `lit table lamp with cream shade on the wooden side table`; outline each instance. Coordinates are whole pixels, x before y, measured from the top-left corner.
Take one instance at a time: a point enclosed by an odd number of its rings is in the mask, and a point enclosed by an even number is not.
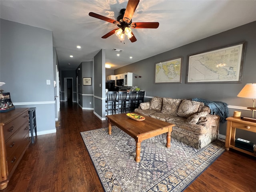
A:
[[[252,110],[252,118],[254,118],[254,110],[256,110],[256,107],[254,105],[254,99],[256,98],[256,83],[246,84],[237,96],[252,99],[253,106],[247,108]]]

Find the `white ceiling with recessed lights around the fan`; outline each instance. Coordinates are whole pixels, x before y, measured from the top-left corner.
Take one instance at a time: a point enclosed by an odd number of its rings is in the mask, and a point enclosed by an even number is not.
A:
[[[61,70],[75,70],[101,49],[106,50],[111,69],[120,68],[256,20],[256,0],[140,0],[132,22],[159,22],[159,27],[132,29],[134,43],[127,38],[121,43],[115,34],[102,39],[116,25],[90,17],[89,12],[116,20],[127,2],[0,0],[0,17],[51,30]],[[82,48],[78,50],[77,45]],[[124,51],[118,57],[113,48]]]

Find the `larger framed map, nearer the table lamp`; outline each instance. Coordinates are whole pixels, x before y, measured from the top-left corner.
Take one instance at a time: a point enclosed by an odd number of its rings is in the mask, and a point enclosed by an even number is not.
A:
[[[245,44],[190,55],[186,83],[241,83]]]

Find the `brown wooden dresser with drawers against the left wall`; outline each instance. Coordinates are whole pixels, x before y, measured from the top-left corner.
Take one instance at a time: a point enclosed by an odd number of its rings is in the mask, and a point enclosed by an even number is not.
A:
[[[29,144],[28,108],[0,113],[1,190],[7,187]]]

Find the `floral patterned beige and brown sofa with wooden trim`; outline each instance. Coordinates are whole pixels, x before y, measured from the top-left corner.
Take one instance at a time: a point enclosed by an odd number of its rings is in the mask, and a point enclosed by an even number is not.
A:
[[[134,112],[174,124],[171,137],[197,149],[218,138],[220,116],[202,102],[154,97]]]

